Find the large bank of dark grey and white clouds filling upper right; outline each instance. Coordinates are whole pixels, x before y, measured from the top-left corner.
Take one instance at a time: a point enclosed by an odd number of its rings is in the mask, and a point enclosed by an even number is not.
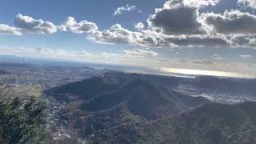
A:
[[[138,46],[256,46],[254,14],[240,10],[200,14],[202,6],[215,6],[218,2],[170,0],[150,15],[147,29],[142,23],[134,25],[138,31],[127,30],[116,24],[108,30],[90,34],[90,39],[99,43]]]

